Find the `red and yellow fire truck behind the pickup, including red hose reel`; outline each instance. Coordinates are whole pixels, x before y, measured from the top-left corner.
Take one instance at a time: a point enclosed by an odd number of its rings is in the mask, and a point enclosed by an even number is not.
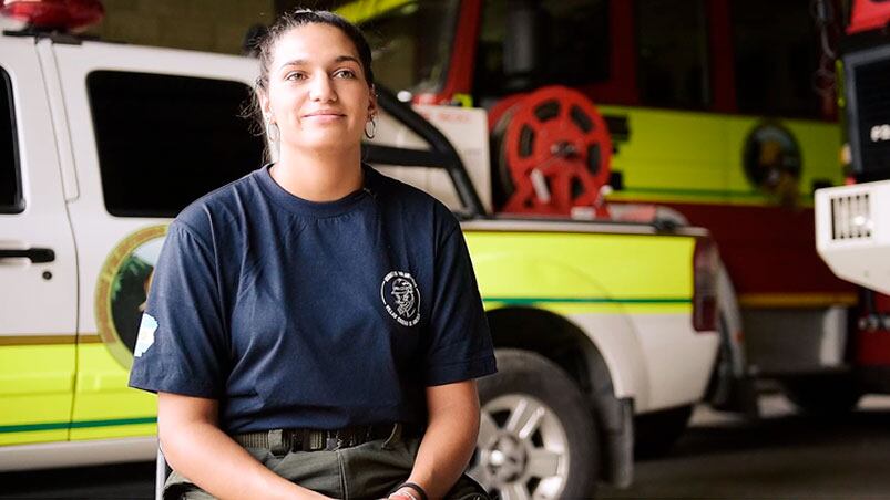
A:
[[[857,291],[814,244],[812,192],[843,183],[825,3],[358,0],[338,11],[375,37],[376,74],[400,98],[485,110],[494,211],[707,227],[723,259],[709,397],[751,415],[761,379],[815,413],[860,396]]]

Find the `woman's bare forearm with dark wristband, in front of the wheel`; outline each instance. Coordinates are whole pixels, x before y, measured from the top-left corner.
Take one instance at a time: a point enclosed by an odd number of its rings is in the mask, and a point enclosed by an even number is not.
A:
[[[420,442],[409,482],[430,499],[442,498],[473,456],[479,435],[479,394],[475,381],[427,387],[429,423]],[[410,488],[400,489],[415,496]]]

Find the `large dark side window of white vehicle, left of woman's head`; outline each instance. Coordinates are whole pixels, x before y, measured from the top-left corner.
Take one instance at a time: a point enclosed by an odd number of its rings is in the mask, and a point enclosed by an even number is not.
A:
[[[174,217],[258,168],[263,139],[239,116],[241,82],[120,71],[86,77],[105,209]]]

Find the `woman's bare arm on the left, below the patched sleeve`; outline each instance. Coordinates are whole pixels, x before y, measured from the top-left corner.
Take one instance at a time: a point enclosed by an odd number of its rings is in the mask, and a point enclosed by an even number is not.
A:
[[[157,434],[170,466],[216,498],[323,499],[254,459],[217,427],[215,399],[157,393]]]

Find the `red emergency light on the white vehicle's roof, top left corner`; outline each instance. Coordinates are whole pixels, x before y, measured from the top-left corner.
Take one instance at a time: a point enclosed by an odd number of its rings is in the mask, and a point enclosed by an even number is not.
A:
[[[39,30],[74,31],[99,23],[104,14],[99,0],[0,0],[0,15]]]

